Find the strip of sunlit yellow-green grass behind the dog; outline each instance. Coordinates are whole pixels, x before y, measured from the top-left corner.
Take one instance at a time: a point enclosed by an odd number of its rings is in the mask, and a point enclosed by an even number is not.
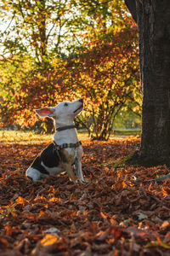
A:
[[[112,136],[121,136],[121,135],[138,135],[140,134],[139,130],[116,130]],[[87,131],[78,131],[79,139],[88,139]],[[19,143],[19,142],[50,142],[53,140],[53,134],[37,134],[34,131],[0,131],[0,142],[1,143]]]

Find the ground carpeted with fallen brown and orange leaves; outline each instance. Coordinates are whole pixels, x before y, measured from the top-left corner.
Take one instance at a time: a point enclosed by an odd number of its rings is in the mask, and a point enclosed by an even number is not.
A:
[[[139,138],[82,141],[89,184],[66,174],[32,183],[31,160],[47,143],[0,145],[0,255],[170,255],[170,178],[167,166],[119,166]]]

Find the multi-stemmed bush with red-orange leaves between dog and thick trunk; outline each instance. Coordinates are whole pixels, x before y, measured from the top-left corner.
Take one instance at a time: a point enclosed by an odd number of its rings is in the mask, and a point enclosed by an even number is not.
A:
[[[133,102],[137,111],[140,101],[138,55],[135,45],[136,27],[114,32],[111,41],[95,38],[87,52],[71,59],[71,84],[80,95],[85,94],[85,111],[79,121],[90,137],[106,140],[111,135],[117,113]],[[133,42],[133,44],[132,44]],[[135,108],[134,108],[135,106]]]

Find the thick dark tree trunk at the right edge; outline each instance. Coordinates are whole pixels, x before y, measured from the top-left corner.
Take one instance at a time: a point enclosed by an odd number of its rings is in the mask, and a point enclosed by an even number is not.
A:
[[[143,86],[142,138],[139,160],[170,163],[170,3],[127,0],[137,17]],[[163,19],[162,19],[163,17]],[[141,29],[142,28],[142,29]],[[141,40],[141,38],[143,38]]]

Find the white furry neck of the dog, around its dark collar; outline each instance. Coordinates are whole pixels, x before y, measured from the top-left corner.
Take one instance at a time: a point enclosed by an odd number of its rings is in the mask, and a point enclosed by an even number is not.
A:
[[[64,127],[67,125],[75,125],[73,120],[67,120],[66,122],[62,122],[57,120],[55,122],[55,129]],[[77,129],[71,128],[64,131],[56,131],[54,133],[54,142],[58,145],[64,144],[64,143],[77,143],[78,137],[77,137]]]

